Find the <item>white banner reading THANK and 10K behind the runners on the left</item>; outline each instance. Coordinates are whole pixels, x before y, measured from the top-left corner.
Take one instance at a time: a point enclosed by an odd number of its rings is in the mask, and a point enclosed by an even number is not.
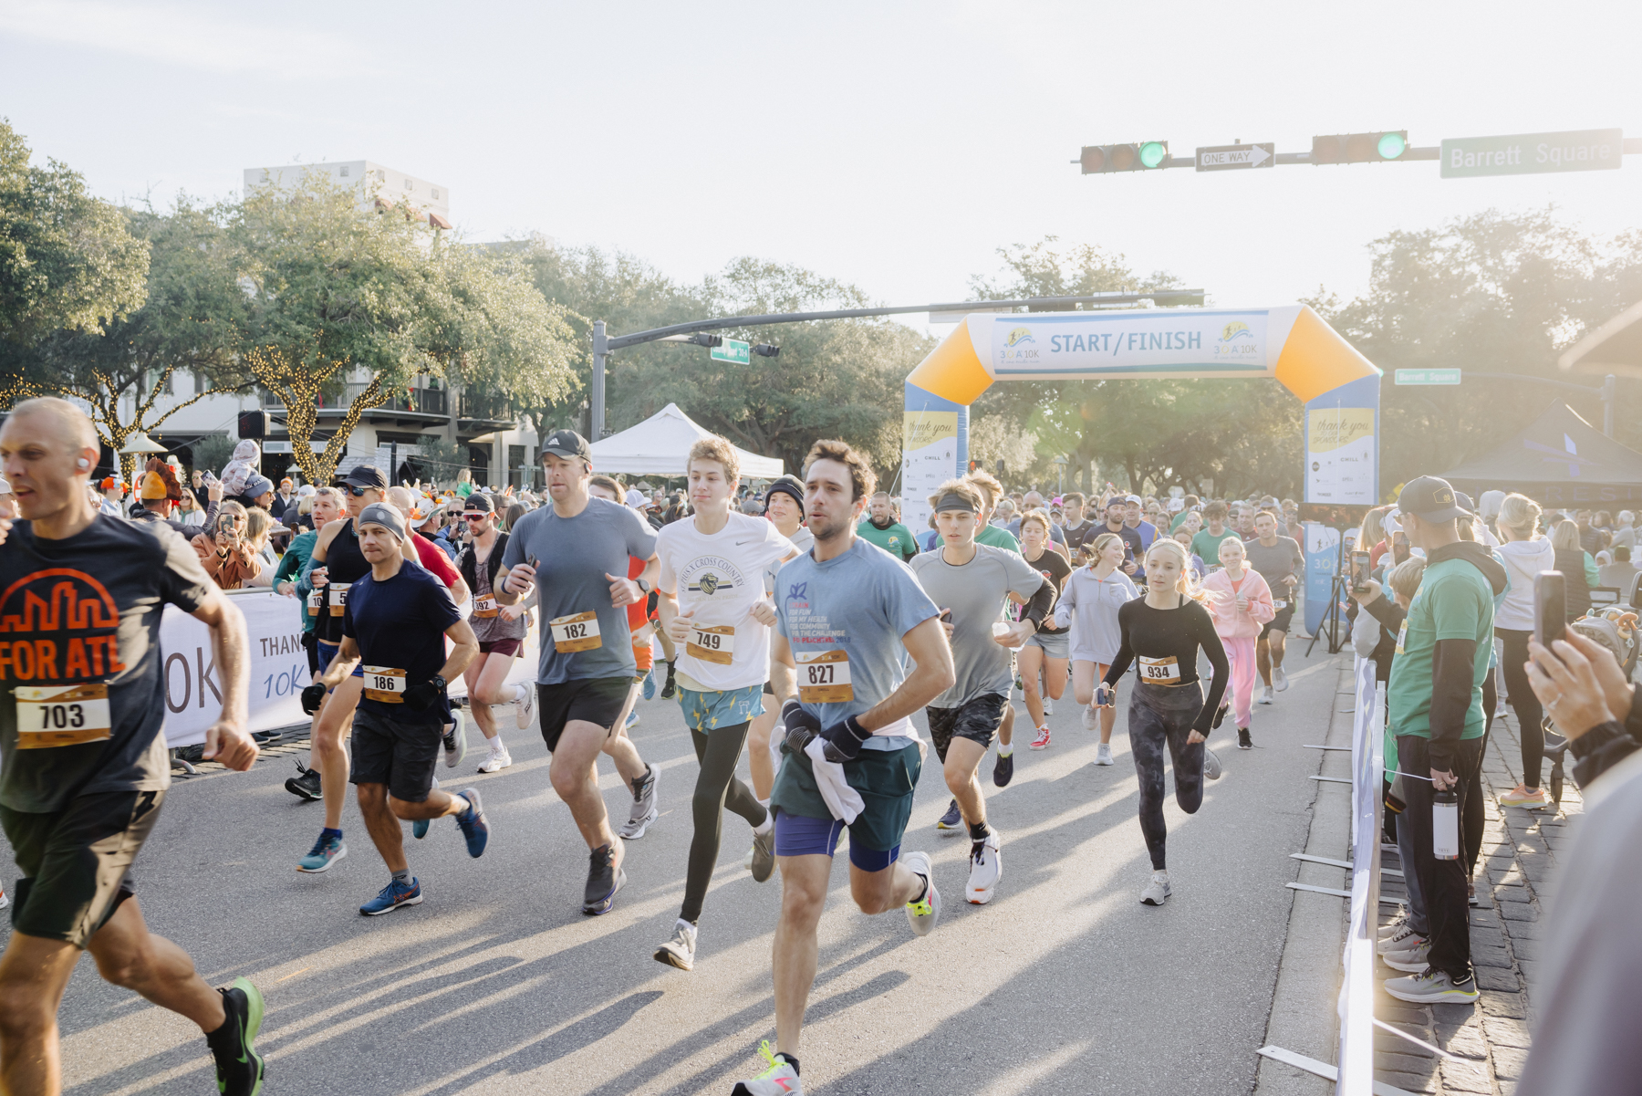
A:
[[[245,613],[251,638],[251,718],[250,731],[271,731],[307,723],[300,693],[309,685],[307,651],[302,649],[305,608],[297,598],[268,590],[232,592],[228,600]],[[473,601],[461,606],[466,616]],[[159,624],[161,665],[166,675],[166,746],[205,741],[205,728],[222,715],[222,677],[210,649],[210,629],[174,605],[166,606]],[[509,682],[534,682],[537,639],[529,633],[521,657],[507,670]],[[468,685],[456,679],[452,697],[465,697]]]

